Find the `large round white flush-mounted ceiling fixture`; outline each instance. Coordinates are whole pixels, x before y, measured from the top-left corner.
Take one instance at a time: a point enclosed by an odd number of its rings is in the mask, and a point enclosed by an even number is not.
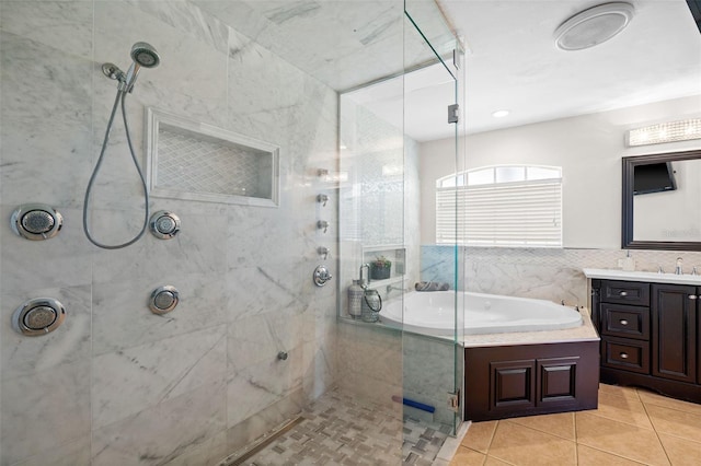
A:
[[[555,30],[561,50],[582,50],[601,44],[628,26],[635,9],[625,2],[604,3],[581,11]]]

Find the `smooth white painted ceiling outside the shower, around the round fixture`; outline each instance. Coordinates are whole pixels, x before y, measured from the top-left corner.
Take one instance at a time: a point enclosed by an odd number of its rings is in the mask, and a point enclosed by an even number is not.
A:
[[[468,132],[700,95],[701,34],[686,1],[629,1],[635,15],[618,36],[562,51],[555,28],[606,0],[440,0],[469,48]]]

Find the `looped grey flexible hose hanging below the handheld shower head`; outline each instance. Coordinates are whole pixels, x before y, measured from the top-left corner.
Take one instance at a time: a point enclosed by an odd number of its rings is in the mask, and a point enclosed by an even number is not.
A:
[[[85,232],[85,236],[88,236],[88,240],[92,244],[94,244],[97,247],[102,247],[103,249],[120,249],[123,247],[127,247],[136,243],[137,241],[139,241],[139,238],[141,238],[141,236],[143,236],[143,233],[146,232],[146,228],[149,223],[149,191],[148,191],[148,188],[146,187],[146,179],[143,179],[143,173],[141,172],[141,167],[139,166],[139,162],[137,161],[136,152],[134,151],[134,144],[131,144],[131,135],[129,133],[129,124],[127,123],[127,113],[125,109],[126,97],[127,97],[126,90],[124,91],[117,90],[117,96],[114,100],[114,105],[112,106],[112,114],[110,115],[110,121],[107,123],[107,130],[105,131],[105,139],[102,142],[100,158],[97,158],[97,163],[95,164],[95,168],[92,171],[92,175],[90,176],[90,182],[88,183],[88,188],[85,189],[85,200],[83,202],[83,231]],[[112,129],[112,124],[114,123],[114,116],[117,113],[117,106],[119,106],[119,104],[122,104],[122,117],[124,119],[124,129],[127,135],[127,143],[129,145],[129,152],[131,153],[131,160],[134,161],[134,166],[136,167],[136,171],[139,174],[139,178],[141,179],[141,187],[143,189],[146,208],[145,208],[143,224],[141,225],[141,231],[131,240],[127,241],[126,243],[110,245],[110,244],[100,243],[92,236],[92,233],[90,232],[90,225],[88,223],[88,211],[90,207],[90,194],[92,191],[92,186],[95,182],[95,178],[97,177],[97,172],[100,172],[100,167],[102,166],[105,152],[107,151],[107,143],[110,141],[110,131]]]

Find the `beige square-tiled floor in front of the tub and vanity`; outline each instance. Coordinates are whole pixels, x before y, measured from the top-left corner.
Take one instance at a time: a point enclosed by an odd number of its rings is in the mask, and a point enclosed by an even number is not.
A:
[[[590,411],[475,422],[451,466],[701,465],[701,405],[599,386]]]

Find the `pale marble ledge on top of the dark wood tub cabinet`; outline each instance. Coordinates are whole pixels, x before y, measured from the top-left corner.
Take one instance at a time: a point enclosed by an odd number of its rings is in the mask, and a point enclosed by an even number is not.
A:
[[[474,347],[497,347],[512,345],[542,345],[542,343],[564,343],[573,341],[598,341],[599,334],[591,324],[589,310],[581,307],[582,325],[576,328],[564,330],[542,330],[542,331],[510,331],[505,334],[482,334],[466,335],[462,346]]]

